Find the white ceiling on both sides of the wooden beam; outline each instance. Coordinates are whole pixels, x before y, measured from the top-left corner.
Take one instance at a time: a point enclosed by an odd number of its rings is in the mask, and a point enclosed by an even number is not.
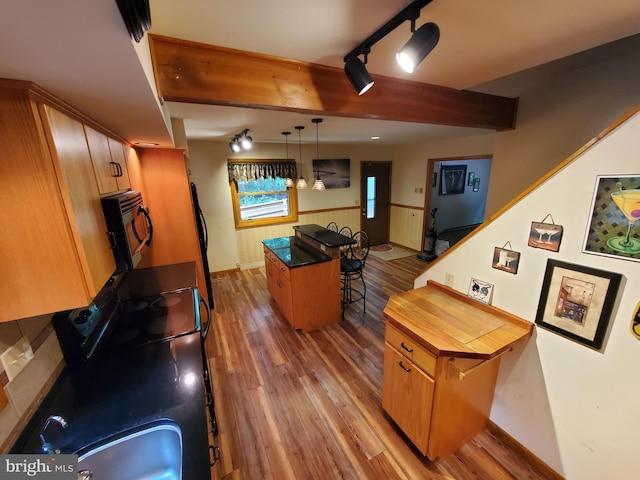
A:
[[[160,107],[115,0],[2,0],[0,76],[32,80],[131,142],[170,146],[164,118],[183,118],[188,138],[228,141],[250,128],[258,142],[281,132],[315,141],[309,115],[169,103]],[[409,0],[150,0],[151,32],[283,58],[343,67],[343,57]],[[436,48],[409,75],[394,60],[409,38],[406,22],[373,46],[373,74],[457,89],[486,82],[640,32],[638,0],[434,0],[417,26],[438,24]],[[144,55],[143,55],[144,56]],[[148,65],[146,65],[148,67]],[[500,85],[491,93],[517,96]],[[374,86],[375,88],[375,86]],[[165,110],[165,117],[162,110]],[[475,129],[325,118],[321,141],[411,142]],[[296,137],[297,140],[297,137]]]

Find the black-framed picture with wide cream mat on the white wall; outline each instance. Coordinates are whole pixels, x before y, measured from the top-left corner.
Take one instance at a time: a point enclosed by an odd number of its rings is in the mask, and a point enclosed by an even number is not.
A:
[[[536,324],[599,350],[621,278],[619,273],[547,260]]]

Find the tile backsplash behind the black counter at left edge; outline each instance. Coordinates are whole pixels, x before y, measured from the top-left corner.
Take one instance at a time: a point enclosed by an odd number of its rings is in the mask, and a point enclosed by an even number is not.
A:
[[[51,315],[0,323],[0,354],[25,335],[33,359],[10,382],[0,364],[0,387],[9,400],[0,411],[0,453],[9,451],[64,366]]]

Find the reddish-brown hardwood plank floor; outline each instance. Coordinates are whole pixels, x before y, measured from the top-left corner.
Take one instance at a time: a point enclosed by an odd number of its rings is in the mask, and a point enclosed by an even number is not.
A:
[[[381,406],[384,309],[413,288],[415,256],[367,259],[367,313],[303,334],[275,309],[264,268],[213,280],[207,338],[221,479],[541,479],[488,432],[429,461]]]

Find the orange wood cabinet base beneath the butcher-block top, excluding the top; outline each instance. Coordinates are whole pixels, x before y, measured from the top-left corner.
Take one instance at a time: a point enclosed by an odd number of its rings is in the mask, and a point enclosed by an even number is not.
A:
[[[484,429],[499,366],[499,357],[484,362],[436,357],[387,325],[382,407],[418,450],[434,460]]]

